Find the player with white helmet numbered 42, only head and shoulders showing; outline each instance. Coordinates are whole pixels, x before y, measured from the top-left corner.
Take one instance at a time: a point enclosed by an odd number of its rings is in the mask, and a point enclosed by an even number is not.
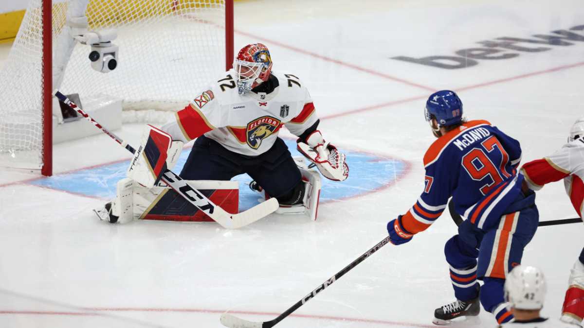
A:
[[[498,328],[578,328],[575,324],[541,317],[547,285],[543,272],[535,267],[516,266],[505,280],[505,300],[515,320]]]

